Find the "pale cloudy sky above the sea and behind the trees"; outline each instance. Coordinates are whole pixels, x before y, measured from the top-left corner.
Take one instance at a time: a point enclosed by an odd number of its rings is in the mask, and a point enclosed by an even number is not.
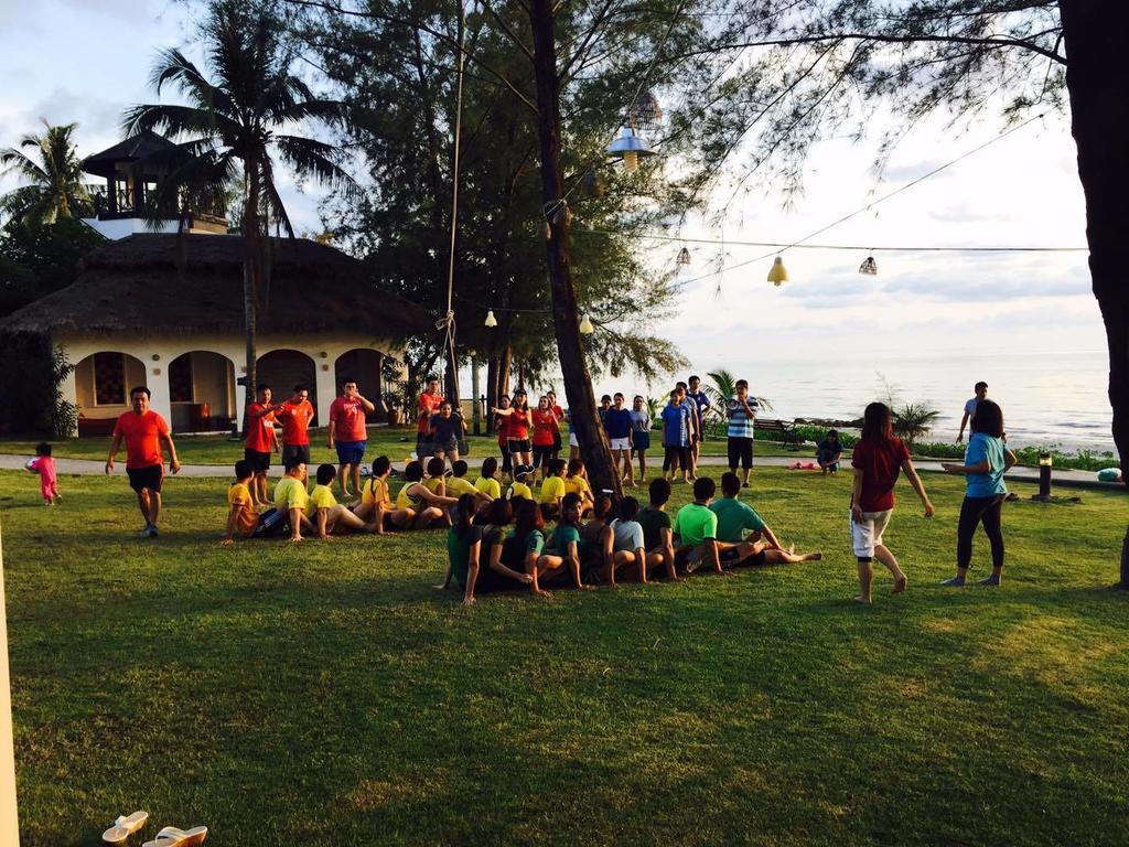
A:
[[[0,145],[36,131],[40,117],[77,121],[82,155],[121,139],[122,111],[152,102],[149,70],[159,47],[184,45],[191,8],[168,0],[0,0]],[[67,45],[59,51],[58,45]],[[51,47],[50,61],[43,56]],[[734,241],[790,243],[988,141],[995,116],[963,133],[922,124],[877,182],[873,145],[832,140],[812,152],[804,194],[785,209],[771,184],[728,204],[721,224],[682,235],[726,239],[725,264],[769,252]],[[12,186],[0,182],[0,191]],[[320,230],[317,194],[289,177],[282,197],[296,229]],[[577,234],[576,237],[585,237]],[[587,236],[592,237],[592,236]],[[858,273],[866,246],[1084,246],[1085,207],[1065,116],[1048,116],[813,239],[850,251],[790,250],[789,282],[765,281],[771,259],[711,274],[718,245],[689,246],[693,263],[675,320],[649,328],[675,341],[691,368],[756,378],[767,368],[812,368],[856,359],[868,372],[890,361],[955,353],[1023,357],[1061,352],[1104,367],[1104,331],[1085,253],[875,253],[877,277]],[[640,243],[656,268],[681,244]],[[1089,379],[1105,402],[1102,381]],[[604,390],[601,382],[597,390]],[[963,391],[963,388],[962,388]]]

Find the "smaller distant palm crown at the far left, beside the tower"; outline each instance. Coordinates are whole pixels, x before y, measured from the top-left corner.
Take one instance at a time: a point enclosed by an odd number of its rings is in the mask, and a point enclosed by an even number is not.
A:
[[[21,185],[0,198],[0,213],[29,224],[54,224],[69,218],[91,202],[90,191],[82,182],[82,161],[75,152],[71,136],[77,123],[52,126],[42,136],[27,134],[19,148],[0,150],[0,176],[19,176],[30,184]],[[23,152],[32,147],[40,151],[40,161]]]

